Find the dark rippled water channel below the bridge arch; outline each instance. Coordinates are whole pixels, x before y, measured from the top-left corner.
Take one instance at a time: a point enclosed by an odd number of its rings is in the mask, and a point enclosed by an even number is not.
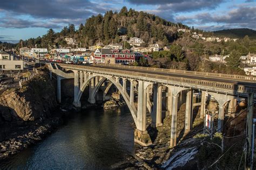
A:
[[[74,112],[40,143],[0,162],[0,169],[107,169],[134,153],[127,107]]]

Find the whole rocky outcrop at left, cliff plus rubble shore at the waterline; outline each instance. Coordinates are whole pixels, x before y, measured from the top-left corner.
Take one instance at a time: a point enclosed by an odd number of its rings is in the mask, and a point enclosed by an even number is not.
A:
[[[41,140],[62,122],[60,111],[53,111],[57,106],[55,87],[46,72],[38,72],[22,88],[7,89],[0,94],[0,158]]]

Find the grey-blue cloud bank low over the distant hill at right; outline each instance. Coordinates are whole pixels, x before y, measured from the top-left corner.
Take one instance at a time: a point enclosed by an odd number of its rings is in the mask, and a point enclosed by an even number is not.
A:
[[[194,16],[178,16],[175,19],[177,22],[199,25],[198,27],[207,30],[217,30],[220,27],[247,27],[256,29],[256,6],[239,6],[239,8],[231,9],[225,15],[219,13],[198,13]]]

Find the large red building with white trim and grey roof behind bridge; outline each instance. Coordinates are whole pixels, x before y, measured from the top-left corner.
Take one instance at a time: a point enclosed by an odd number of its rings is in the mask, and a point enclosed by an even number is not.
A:
[[[105,63],[108,58],[116,58],[116,63],[132,63],[135,61],[135,54],[129,49],[101,48],[91,55],[91,61],[95,63]]]

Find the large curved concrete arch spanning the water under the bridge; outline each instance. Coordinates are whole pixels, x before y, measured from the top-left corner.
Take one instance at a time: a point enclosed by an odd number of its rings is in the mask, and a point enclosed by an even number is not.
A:
[[[123,91],[123,87],[121,86],[121,84],[119,82],[116,81],[116,79],[114,79],[112,76],[109,76],[109,75],[98,75],[98,74],[90,74],[89,77],[87,77],[87,79],[84,81],[84,83],[82,84],[82,86],[80,87],[80,90],[78,92],[78,97],[77,97],[77,101],[76,102],[79,102],[80,101],[80,98],[83,94],[83,91],[85,89],[85,87],[87,86],[87,84],[90,82],[91,79],[93,79],[94,77],[96,76],[102,76],[103,79],[100,80],[100,83],[103,83],[105,80],[109,80],[111,81],[114,86],[117,87],[117,89],[120,91],[121,95],[123,96],[131,114],[132,114],[132,117],[133,117],[133,120],[137,126],[137,110],[136,108],[134,107],[134,105],[131,105],[130,104],[130,97],[129,95]],[[98,83],[97,85],[99,85],[100,83]],[[96,87],[96,88],[99,88],[99,87]],[[96,94],[97,91],[95,91],[95,94]]]

